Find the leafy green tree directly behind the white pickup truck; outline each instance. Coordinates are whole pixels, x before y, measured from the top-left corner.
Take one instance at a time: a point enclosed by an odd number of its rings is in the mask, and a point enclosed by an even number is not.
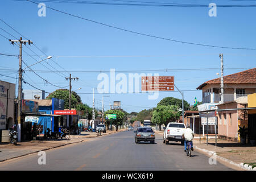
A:
[[[175,122],[180,117],[179,108],[175,105],[158,105],[152,113],[151,122],[167,126],[168,122]]]

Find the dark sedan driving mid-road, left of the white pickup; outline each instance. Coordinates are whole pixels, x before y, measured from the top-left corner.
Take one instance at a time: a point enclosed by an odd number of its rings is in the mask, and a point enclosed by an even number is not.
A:
[[[151,127],[138,127],[135,133],[135,143],[139,143],[141,141],[150,143],[155,143],[155,132],[151,129]]]

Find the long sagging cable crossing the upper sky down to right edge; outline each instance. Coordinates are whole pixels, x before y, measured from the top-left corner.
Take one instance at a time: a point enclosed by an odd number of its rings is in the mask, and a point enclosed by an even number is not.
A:
[[[31,3],[35,3],[36,5],[39,5],[39,3],[36,3],[36,2],[34,2],[34,1],[30,1],[30,0],[27,0],[27,1],[28,1],[28,2],[31,2]],[[101,24],[102,26],[115,28],[115,29],[117,29],[117,30],[126,31],[126,32],[130,32],[130,33],[133,33],[133,34],[138,34],[138,35],[148,36],[148,37],[151,37],[151,38],[163,39],[163,40],[169,40],[169,41],[172,41],[172,42],[183,43],[183,44],[192,44],[192,45],[195,45],[195,46],[205,46],[205,47],[214,47],[214,48],[226,48],[226,49],[245,49],[245,50],[256,50],[256,48],[240,48],[240,47],[212,46],[212,45],[208,45],[208,44],[200,44],[200,43],[184,42],[184,41],[175,40],[175,39],[162,38],[162,37],[160,37],[160,36],[144,34],[144,33],[140,33],[140,32],[135,32],[135,31],[127,30],[127,29],[125,29],[125,28],[119,28],[119,27],[115,27],[115,26],[112,26],[112,25],[109,25],[109,24],[105,24],[105,23],[101,23],[101,22],[96,22],[96,21],[94,21],[94,20],[90,20],[90,19],[87,19],[87,18],[82,18],[81,16],[77,16],[77,15],[73,15],[73,14],[70,14],[70,13],[66,13],[66,12],[64,12],[64,11],[60,11],[60,10],[57,10],[57,9],[53,9],[52,7],[49,7],[49,6],[46,6],[46,7],[47,7],[48,9],[51,9],[51,10],[57,11],[57,12],[62,13],[62,14],[66,14],[66,15],[69,15],[69,16],[73,16],[73,17],[76,17],[76,18],[79,18],[79,19],[82,19],[82,20],[86,20],[86,21],[89,21],[89,22],[93,22],[93,23]]]

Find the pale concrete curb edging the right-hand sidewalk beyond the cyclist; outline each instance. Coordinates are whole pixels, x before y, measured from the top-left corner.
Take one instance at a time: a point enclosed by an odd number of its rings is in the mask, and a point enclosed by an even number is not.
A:
[[[215,151],[205,150],[204,148],[202,149],[202,148],[199,148],[199,147],[197,147],[197,146],[194,146],[194,148],[195,148],[196,150],[199,150],[199,151],[202,151],[202,152],[204,152],[204,153],[207,153],[207,155],[210,155],[210,156],[216,155],[216,152],[215,152]],[[232,160],[223,158],[223,157],[218,156],[218,155],[216,155],[216,158],[219,159],[219,160],[221,160],[222,162],[226,162],[226,163],[232,164],[233,166],[236,166],[236,167],[238,167],[238,168],[245,169],[246,171],[252,171],[252,170],[253,170],[253,171],[256,171],[256,168],[255,168],[255,169],[251,169],[251,167],[246,167],[247,164],[245,164],[245,166],[243,166],[243,163],[238,164],[238,163],[233,162]]]

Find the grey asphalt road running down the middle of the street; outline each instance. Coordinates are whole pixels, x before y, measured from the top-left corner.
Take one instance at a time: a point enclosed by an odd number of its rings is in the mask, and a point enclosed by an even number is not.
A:
[[[133,131],[122,131],[46,151],[46,164],[38,164],[37,154],[0,163],[0,170],[232,170],[223,164],[210,165],[209,158],[192,151],[185,155],[180,142],[136,144]]]

